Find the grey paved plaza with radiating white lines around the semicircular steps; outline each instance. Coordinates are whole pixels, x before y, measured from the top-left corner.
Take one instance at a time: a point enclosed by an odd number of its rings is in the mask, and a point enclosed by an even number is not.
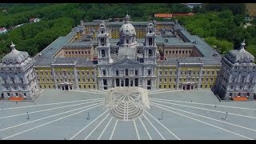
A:
[[[120,121],[106,90],[42,90],[34,102],[0,101],[0,139],[256,139],[256,105],[219,102],[211,90],[149,90],[150,109]]]

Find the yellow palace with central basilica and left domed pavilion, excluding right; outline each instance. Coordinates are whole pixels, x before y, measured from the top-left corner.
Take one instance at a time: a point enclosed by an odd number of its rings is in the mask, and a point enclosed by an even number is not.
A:
[[[222,69],[222,55],[177,21],[130,22],[128,14],[124,22],[81,21],[34,58],[11,48],[0,62],[6,99],[33,99],[39,89],[210,89]]]

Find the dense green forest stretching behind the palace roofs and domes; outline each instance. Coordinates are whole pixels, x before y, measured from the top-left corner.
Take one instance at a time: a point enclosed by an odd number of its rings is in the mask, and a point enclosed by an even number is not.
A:
[[[26,24],[0,35],[0,58],[10,52],[11,41],[18,50],[26,50],[34,56],[59,36],[68,34],[80,20],[91,22],[94,19],[123,18],[127,11],[133,21],[166,21],[154,18],[154,14],[193,12],[194,16],[175,19],[191,34],[204,38],[221,54],[237,48],[246,39],[246,50],[256,57],[255,25],[243,28],[246,5],[242,3],[204,4],[192,10],[175,3],[2,3],[0,27],[9,29]],[[30,23],[30,18],[40,18],[41,21]]]

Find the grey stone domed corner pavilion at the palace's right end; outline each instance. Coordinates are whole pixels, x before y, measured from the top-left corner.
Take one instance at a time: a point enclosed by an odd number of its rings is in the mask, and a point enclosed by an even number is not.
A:
[[[230,50],[222,58],[222,70],[214,87],[214,92],[222,99],[254,99],[256,64],[245,46],[244,41],[238,50]]]

